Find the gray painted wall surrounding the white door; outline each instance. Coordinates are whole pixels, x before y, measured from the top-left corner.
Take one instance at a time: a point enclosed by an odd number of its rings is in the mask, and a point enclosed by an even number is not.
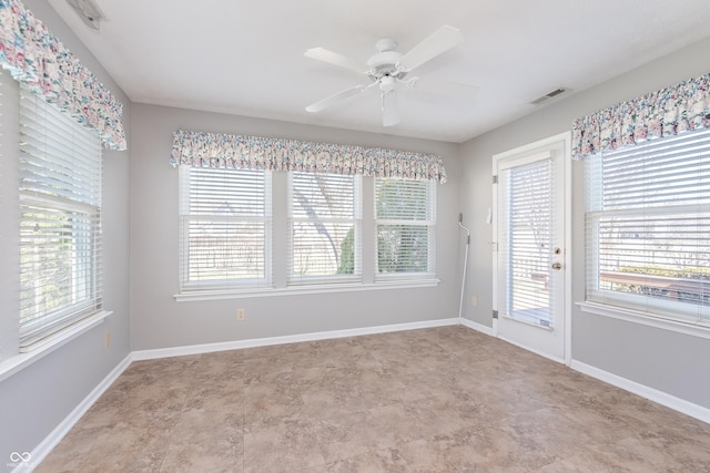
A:
[[[571,128],[572,121],[618,102],[673,85],[710,71],[710,40],[552,103],[462,145],[460,206],[474,226],[465,317],[491,327],[490,226],[491,156]],[[564,85],[564,84],[562,84]],[[574,91],[572,91],[574,92]],[[584,196],[581,163],[572,165],[574,301],[585,297]],[[572,357],[597,369],[710,408],[710,340],[581,312],[572,315]],[[704,353],[704,354],[703,354]]]

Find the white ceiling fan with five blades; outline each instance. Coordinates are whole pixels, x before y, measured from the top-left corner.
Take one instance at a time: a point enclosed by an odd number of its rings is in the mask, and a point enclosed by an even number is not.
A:
[[[445,25],[424,39],[409,52],[403,54],[396,51],[397,42],[395,40],[383,38],[375,44],[378,52],[364,64],[324,48],[312,48],[304,53],[306,58],[365,74],[371,82],[366,85],[352,86],[320,100],[306,106],[306,111],[317,113],[365,91],[379,88],[382,92],[383,126],[393,126],[399,123],[396,92],[400,85],[453,94],[463,99],[470,97],[478,90],[476,86],[453,82],[422,81],[416,76],[407,78],[413,70],[445,53],[462,41],[464,41],[464,37],[458,29]]]

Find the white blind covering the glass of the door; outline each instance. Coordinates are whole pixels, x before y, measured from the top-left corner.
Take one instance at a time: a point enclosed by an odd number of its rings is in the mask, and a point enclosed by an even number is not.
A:
[[[498,258],[503,276],[499,310],[529,323],[552,327],[554,162],[534,161],[498,175]]]

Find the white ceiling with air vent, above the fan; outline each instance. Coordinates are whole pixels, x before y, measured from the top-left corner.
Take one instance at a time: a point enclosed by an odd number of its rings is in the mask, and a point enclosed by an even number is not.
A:
[[[50,3],[133,102],[455,143],[710,37],[708,0],[97,1],[109,19],[99,33],[65,0]],[[464,42],[416,75],[477,85],[475,97],[403,90],[392,127],[376,90],[305,111],[366,83],[306,49],[364,63],[383,37],[407,52],[444,24]],[[558,88],[569,91],[530,104]]]

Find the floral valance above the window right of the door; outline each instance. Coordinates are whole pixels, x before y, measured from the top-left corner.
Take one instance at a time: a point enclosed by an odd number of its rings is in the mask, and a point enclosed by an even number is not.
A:
[[[700,127],[710,127],[710,74],[577,119],[572,157]]]

